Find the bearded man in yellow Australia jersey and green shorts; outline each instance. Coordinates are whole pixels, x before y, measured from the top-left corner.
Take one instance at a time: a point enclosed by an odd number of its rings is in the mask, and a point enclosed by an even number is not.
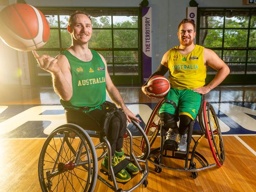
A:
[[[218,86],[230,72],[214,51],[194,44],[195,27],[190,19],[183,19],[178,26],[180,45],[164,54],[158,69],[149,77],[164,75],[169,71],[171,89],[165,96],[168,102],[162,105],[159,117],[164,129],[168,130],[164,142],[175,145],[178,136],[179,151],[187,150],[187,131],[189,123],[198,113],[201,94],[204,95]],[[215,69],[217,74],[204,86],[207,66]],[[154,98],[154,94],[147,89],[147,83],[142,86],[142,91],[148,97]]]

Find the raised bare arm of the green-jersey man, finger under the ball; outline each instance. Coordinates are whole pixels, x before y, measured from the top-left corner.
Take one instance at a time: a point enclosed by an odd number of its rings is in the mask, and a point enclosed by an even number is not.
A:
[[[49,55],[39,56],[36,51],[33,54],[39,66],[52,75],[54,91],[64,101],[69,101],[73,95],[72,76],[70,65],[64,55],[58,55],[55,59]]]

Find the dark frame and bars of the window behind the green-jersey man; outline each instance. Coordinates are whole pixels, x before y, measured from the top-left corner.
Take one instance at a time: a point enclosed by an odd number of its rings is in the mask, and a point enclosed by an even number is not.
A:
[[[141,44],[141,9],[140,7],[36,7],[37,9],[39,9],[40,11],[52,11],[54,12],[54,15],[57,15],[58,18],[58,27],[50,27],[50,30],[58,30],[58,38],[59,38],[59,47],[56,48],[39,48],[39,51],[58,51],[58,52],[63,52],[67,47],[64,47],[62,45],[62,33],[61,30],[66,30],[66,27],[61,27],[60,24],[60,15],[61,11],[63,10],[67,10],[67,11],[73,11],[75,12],[76,10],[82,10],[85,11],[86,13],[90,13],[90,10],[105,10],[105,9],[109,9],[110,10],[110,14],[111,14],[111,27],[109,28],[93,28],[93,30],[111,30],[111,35],[112,35],[112,47],[107,47],[107,48],[99,48],[99,47],[90,47],[90,43],[89,43],[89,48],[92,48],[93,50],[99,51],[99,52],[103,52],[103,51],[110,51],[112,52],[112,62],[107,62],[108,66],[112,66],[112,73],[113,75],[110,75],[110,78],[112,79],[112,81],[114,82],[115,85],[138,85],[141,84],[142,82],[142,44]],[[134,10],[135,13],[137,13],[138,20],[137,20],[137,27],[134,28],[118,28],[118,27],[114,27],[114,23],[113,23],[113,16],[125,16],[125,15],[114,15],[114,13],[118,14],[118,11],[121,13],[123,12],[122,10]],[[116,11],[116,12],[115,12]],[[104,16],[104,15],[102,15]],[[108,15],[110,16],[110,15]],[[136,47],[127,47],[127,48],[120,48],[120,47],[114,47],[114,31],[115,30],[137,30],[136,34],[137,34],[137,46]],[[135,51],[138,52],[138,59],[137,62],[115,62],[114,60],[114,52],[115,51]],[[49,74],[47,75],[37,75],[37,67],[35,66],[35,60],[32,56],[32,54],[30,54],[30,63],[31,63],[31,69],[32,69],[32,76],[34,76],[34,78],[32,78],[32,82],[34,82],[33,84],[36,86],[52,86],[52,80],[51,80],[51,76],[49,76]],[[116,66],[118,65],[131,65],[131,66],[135,66],[137,70],[137,74],[138,75],[115,75],[115,70],[116,70]],[[125,66],[123,66],[125,67]]]

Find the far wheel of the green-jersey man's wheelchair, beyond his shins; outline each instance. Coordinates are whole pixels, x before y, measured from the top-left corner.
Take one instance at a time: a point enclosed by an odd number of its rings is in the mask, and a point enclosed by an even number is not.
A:
[[[127,129],[133,136],[133,154],[138,159],[146,160],[150,152],[148,138],[140,125],[133,119],[131,121],[131,123],[128,123]],[[141,146],[142,140],[144,141],[143,147]],[[126,156],[130,155],[130,137],[127,132],[123,136],[123,150]]]

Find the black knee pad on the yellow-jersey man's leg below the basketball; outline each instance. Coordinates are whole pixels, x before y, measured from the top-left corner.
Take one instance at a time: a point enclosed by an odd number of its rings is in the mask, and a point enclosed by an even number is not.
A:
[[[160,123],[165,130],[172,129],[174,131],[178,130],[177,121],[175,120],[175,115],[169,113],[159,114]]]

